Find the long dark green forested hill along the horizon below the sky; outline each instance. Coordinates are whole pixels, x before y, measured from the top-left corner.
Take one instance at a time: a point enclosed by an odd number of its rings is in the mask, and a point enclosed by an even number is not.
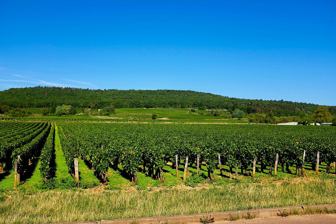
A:
[[[190,90],[91,90],[62,87],[26,87],[0,91],[0,105],[10,107],[42,108],[62,104],[84,108],[157,108],[182,107],[227,109],[239,108],[247,113],[273,111],[276,116],[312,113],[319,105],[291,101],[248,100],[223,97]],[[335,114],[336,107],[330,107]]]

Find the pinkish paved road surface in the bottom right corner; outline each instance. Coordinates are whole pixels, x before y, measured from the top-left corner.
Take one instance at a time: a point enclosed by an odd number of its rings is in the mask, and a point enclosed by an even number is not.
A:
[[[221,221],[214,224],[332,224],[336,223],[336,214],[314,214],[288,217],[256,218],[250,220]]]

